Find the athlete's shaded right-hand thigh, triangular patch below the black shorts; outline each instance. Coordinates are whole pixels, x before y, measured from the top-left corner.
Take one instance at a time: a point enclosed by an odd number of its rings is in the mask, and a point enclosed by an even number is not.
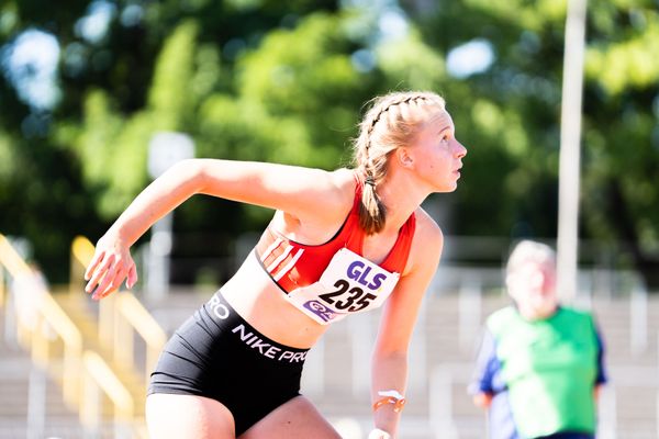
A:
[[[340,439],[304,396],[295,396],[252,426],[241,439]]]

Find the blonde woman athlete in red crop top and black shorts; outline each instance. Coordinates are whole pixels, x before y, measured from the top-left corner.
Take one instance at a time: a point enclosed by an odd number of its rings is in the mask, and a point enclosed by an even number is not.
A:
[[[147,187],[97,244],[86,272],[97,300],[135,284],[131,246],[193,194],[276,211],[234,277],[165,347],[146,403],[150,435],[338,438],[300,394],[304,358],[330,324],[384,304],[369,438],[395,437],[407,348],[443,248],[421,203],[457,188],[466,154],[443,98],[394,92],[371,102],[355,169],[192,159]]]

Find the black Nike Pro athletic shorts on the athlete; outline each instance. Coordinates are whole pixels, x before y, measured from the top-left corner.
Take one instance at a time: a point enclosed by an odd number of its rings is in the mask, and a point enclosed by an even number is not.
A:
[[[165,345],[148,394],[216,399],[233,414],[239,436],[300,395],[306,352],[259,334],[217,292]]]

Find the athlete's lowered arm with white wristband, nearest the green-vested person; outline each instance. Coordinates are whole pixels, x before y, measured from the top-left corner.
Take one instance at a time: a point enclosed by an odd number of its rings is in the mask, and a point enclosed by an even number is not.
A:
[[[423,210],[416,211],[416,232],[407,270],[382,311],[372,357],[371,399],[381,399],[381,391],[405,394],[407,347],[424,293],[439,263],[444,237],[437,224]],[[384,404],[373,413],[376,427],[395,437],[400,412]]]

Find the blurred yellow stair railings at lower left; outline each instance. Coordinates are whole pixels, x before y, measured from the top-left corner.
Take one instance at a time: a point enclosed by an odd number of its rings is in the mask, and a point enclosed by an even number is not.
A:
[[[98,317],[90,317],[97,320],[92,327],[98,328],[98,334],[80,329],[83,322],[66,309],[89,304],[83,293],[83,272],[92,256],[93,245],[77,237],[71,246],[69,297],[58,295],[56,299],[38,272],[0,234],[0,307],[7,308],[12,302],[7,289],[10,281],[12,285],[20,285],[15,294],[29,294],[29,297],[20,297],[25,299],[23,303],[29,306],[23,308],[29,314],[22,315],[16,306],[16,338],[31,352],[33,361],[62,385],[64,401],[80,414],[86,429],[94,431],[101,427],[105,418],[101,402],[101,395],[104,395],[112,404],[115,429],[124,432],[120,436],[146,437],[143,398],[147,380],[126,376],[132,376],[130,371],[136,369],[135,335],[146,346],[144,370],[148,375],[166,341],[166,334],[139,301],[127,292],[113,294],[99,303]],[[4,279],[4,272],[9,274],[8,279]]]

